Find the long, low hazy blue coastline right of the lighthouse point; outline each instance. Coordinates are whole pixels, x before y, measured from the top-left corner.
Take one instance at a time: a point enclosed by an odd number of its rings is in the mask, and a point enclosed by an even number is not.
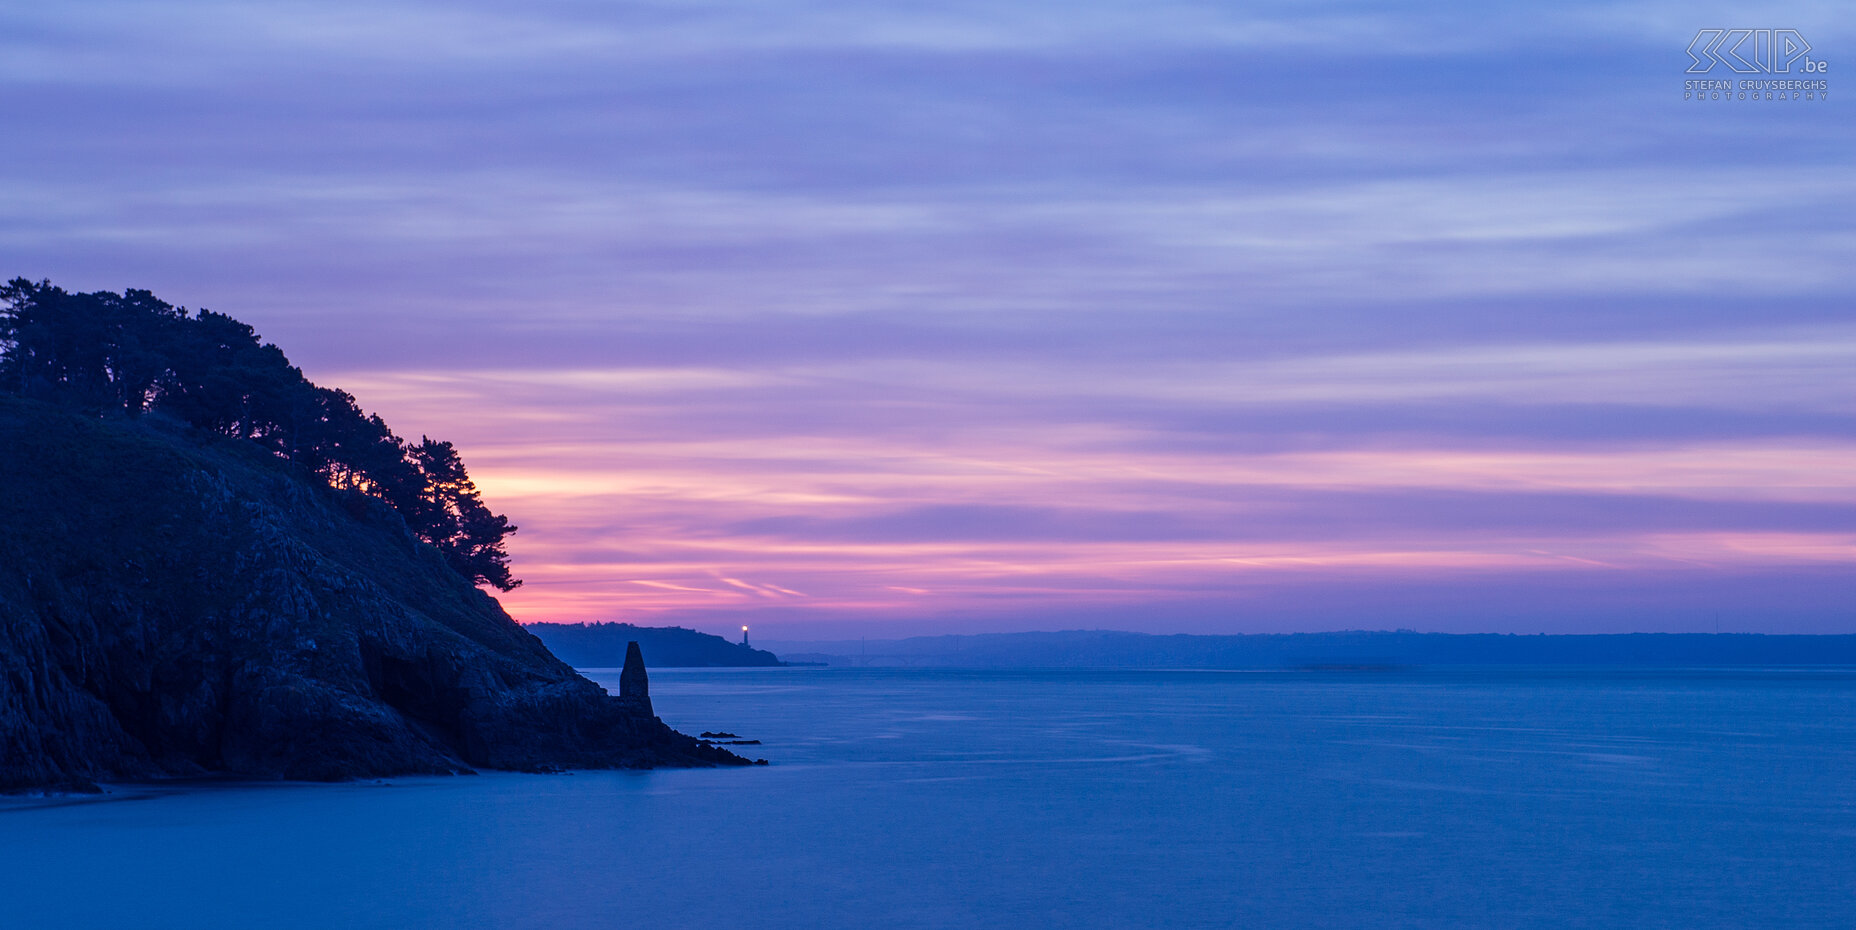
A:
[[[793,663],[937,668],[1409,668],[1409,666],[1841,666],[1856,635],[1765,633],[1242,633],[1112,629],[867,640],[768,640]]]

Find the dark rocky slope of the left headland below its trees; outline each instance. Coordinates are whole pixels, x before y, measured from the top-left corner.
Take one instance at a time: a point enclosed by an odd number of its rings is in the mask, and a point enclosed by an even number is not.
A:
[[[249,444],[0,397],[0,789],[744,763]]]

